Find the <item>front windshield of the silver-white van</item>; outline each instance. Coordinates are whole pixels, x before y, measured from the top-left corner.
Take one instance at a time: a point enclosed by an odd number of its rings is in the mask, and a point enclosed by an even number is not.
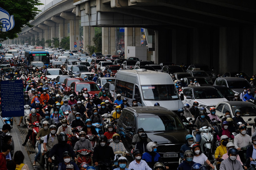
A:
[[[178,93],[173,84],[142,85],[144,100],[178,100]]]

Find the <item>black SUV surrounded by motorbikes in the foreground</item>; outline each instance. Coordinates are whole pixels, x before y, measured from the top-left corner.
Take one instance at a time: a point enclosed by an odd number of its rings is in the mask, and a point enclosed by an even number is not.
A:
[[[160,106],[124,108],[116,131],[129,152],[138,128],[143,128],[149,139],[159,144],[157,151],[164,162],[178,163],[188,132],[174,112]]]

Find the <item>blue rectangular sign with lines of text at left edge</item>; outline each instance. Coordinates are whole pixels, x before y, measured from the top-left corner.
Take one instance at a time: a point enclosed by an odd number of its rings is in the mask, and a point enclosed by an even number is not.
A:
[[[1,82],[2,117],[24,116],[22,80]]]

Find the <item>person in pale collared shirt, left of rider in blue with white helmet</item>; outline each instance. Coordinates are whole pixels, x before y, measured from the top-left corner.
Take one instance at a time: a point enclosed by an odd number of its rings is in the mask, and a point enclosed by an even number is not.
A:
[[[146,161],[142,160],[142,151],[140,149],[135,149],[133,151],[133,157],[135,160],[133,160],[129,164],[129,169],[133,170],[152,170],[149,165],[147,165]]]

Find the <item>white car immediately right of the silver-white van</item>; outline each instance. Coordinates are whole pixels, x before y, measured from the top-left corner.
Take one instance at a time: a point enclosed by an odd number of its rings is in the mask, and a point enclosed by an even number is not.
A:
[[[210,112],[210,107],[216,107],[218,102],[228,101],[223,95],[214,87],[200,86],[200,87],[185,87],[180,93],[183,104],[189,104],[192,107],[193,102],[198,102],[199,107],[205,107],[206,112]]]

